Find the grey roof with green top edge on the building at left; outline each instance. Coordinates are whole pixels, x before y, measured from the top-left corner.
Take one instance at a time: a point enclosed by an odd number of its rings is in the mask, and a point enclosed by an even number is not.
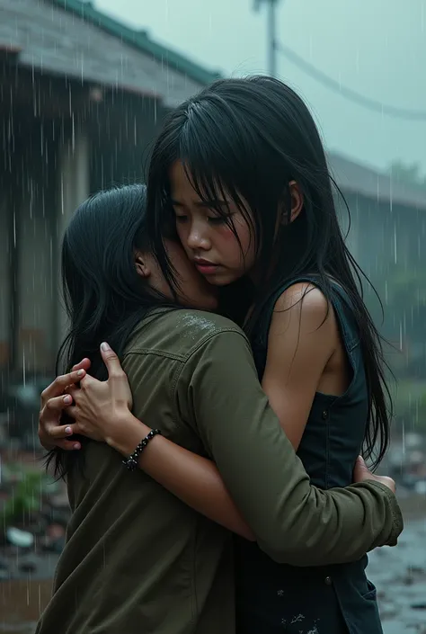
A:
[[[22,49],[23,66],[155,94],[169,107],[217,77],[78,0],[0,0],[0,13],[0,46]]]

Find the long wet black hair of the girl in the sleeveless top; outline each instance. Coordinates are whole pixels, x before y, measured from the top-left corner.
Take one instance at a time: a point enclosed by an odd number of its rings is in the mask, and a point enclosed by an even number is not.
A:
[[[333,197],[337,185],[306,104],[279,80],[253,76],[218,80],[169,113],[153,149],[147,180],[149,227],[166,277],[170,270],[162,233],[173,222],[169,175],[176,160],[182,161],[203,201],[231,198],[252,229],[256,273],[261,278],[254,290],[253,313],[244,326],[249,336],[271,293],[285,281],[315,274],[329,302],[332,280],[346,290],[359,327],[368,381],[364,455],[377,467],[390,436],[392,401],[386,362],[380,335],[362,299],[362,277],[367,278],[345,245]],[[304,205],[297,219],[289,222],[292,180],[303,193]],[[215,210],[235,231],[226,210],[221,206]]]

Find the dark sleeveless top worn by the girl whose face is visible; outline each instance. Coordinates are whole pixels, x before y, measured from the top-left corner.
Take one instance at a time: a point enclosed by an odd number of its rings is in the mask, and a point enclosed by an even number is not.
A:
[[[300,281],[321,290],[315,276],[288,281],[271,296],[253,335],[260,380],[275,303]],[[337,284],[332,304],[351,365],[351,383],[339,397],[315,394],[297,451],[312,484],[323,489],[351,484],[368,420],[359,330],[351,300]],[[376,588],[365,574],[367,563],[366,555],[351,564],[292,567],[276,563],[257,544],[235,537],[237,634],[382,634]]]

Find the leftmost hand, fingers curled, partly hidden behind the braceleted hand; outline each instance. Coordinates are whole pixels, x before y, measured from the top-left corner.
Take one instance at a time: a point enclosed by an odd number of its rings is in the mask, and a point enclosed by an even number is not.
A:
[[[89,359],[84,359],[77,363],[71,372],[57,377],[41,393],[39,440],[44,449],[48,451],[55,447],[67,451],[80,449],[79,442],[65,440],[67,436],[72,434],[72,431],[65,425],[59,425],[59,423],[63,411],[72,403],[72,397],[67,395],[65,390],[69,385],[75,385],[84,379],[89,368]]]

